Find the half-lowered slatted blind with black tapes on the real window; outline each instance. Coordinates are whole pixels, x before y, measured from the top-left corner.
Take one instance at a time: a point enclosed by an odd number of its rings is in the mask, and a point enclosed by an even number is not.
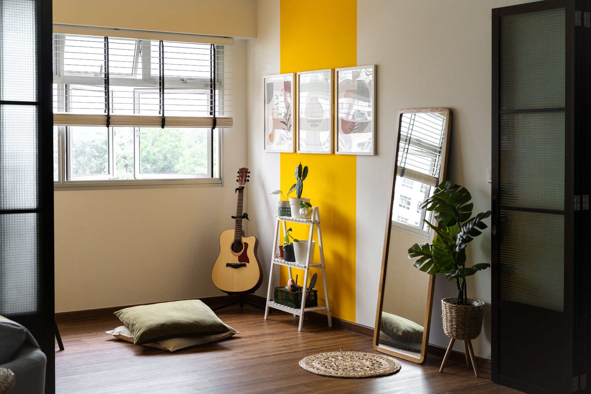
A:
[[[231,46],[54,34],[54,124],[232,127]]]

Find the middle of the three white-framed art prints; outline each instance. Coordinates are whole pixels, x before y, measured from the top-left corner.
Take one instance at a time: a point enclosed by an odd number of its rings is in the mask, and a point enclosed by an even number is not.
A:
[[[298,153],[332,153],[332,69],[297,73]]]

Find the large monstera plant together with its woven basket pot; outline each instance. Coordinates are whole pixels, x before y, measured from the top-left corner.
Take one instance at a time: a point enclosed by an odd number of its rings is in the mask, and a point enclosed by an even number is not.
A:
[[[436,226],[425,220],[436,233],[433,243],[414,244],[408,249],[408,258],[418,257],[413,265],[421,271],[431,275],[443,273],[448,280],[456,280],[457,298],[441,300],[443,331],[452,338],[450,348],[455,340],[463,340],[471,348],[470,341],[480,335],[485,304],[467,298],[466,277],[491,266],[488,263],[466,265],[466,244],[482,234],[480,230],[487,227],[482,220],[491,216],[491,211],[486,211],[470,218],[474,207],[470,199],[472,196],[466,188],[452,185],[449,180],[441,182],[433,196],[421,204],[421,208],[434,212],[439,222]]]

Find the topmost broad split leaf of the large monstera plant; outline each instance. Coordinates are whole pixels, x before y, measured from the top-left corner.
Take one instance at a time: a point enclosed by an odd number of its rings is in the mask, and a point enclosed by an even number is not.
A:
[[[466,221],[472,215],[474,204],[468,203],[472,199],[470,192],[460,185],[452,185],[450,180],[441,182],[427,198],[421,208],[435,211],[435,219],[445,227]]]

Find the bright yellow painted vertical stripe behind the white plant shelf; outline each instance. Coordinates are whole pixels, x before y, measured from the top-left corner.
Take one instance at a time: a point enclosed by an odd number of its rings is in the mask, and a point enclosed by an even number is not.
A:
[[[357,63],[356,0],[281,0],[281,73],[339,67]],[[310,169],[302,197],[319,206],[330,309],[337,318],[355,322],[355,227],[357,157],[341,154],[281,153],[281,190],[295,182],[294,168]],[[294,196],[294,195],[293,195]],[[307,238],[307,226],[294,225]],[[314,238],[316,239],[316,238]],[[319,261],[318,248],[314,260]],[[281,267],[281,284],[287,269]],[[316,272],[315,269],[311,271]],[[303,285],[303,272],[299,285]],[[320,279],[320,278],[319,278]],[[322,281],[316,285],[324,303]]]

